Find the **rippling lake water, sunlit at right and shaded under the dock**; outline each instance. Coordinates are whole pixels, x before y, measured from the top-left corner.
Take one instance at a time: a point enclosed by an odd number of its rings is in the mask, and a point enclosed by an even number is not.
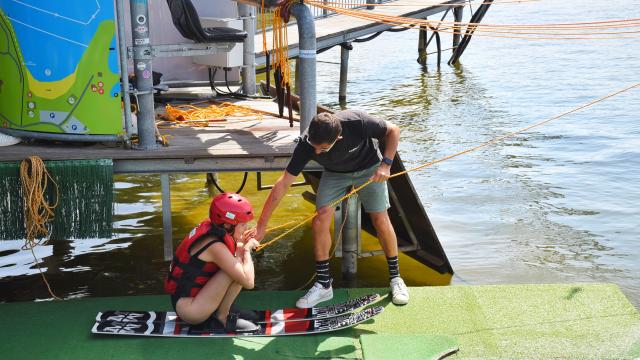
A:
[[[632,1],[537,1],[494,5],[486,23],[552,23],[640,17]],[[637,5],[637,4],[635,4]],[[468,18],[468,11],[466,14]],[[444,37],[443,44],[450,39]],[[635,40],[526,41],[476,37],[462,65],[416,62],[417,32],[385,33],[350,54],[348,107],[403,129],[412,167],[544,120],[640,81]],[[445,45],[445,47],[448,47]],[[447,57],[444,57],[445,61]],[[339,51],[319,56],[339,61]],[[338,65],[318,63],[318,100],[337,103]],[[640,306],[640,90],[513,139],[412,174],[452,263],[453,283],[608,282]],[[267,176],[273,182],[277,174]],[[241,174],[222,174],[236,189]],[[172,176],[176,240],[207,213],[204,175]],[[312,212],[295,188],[271,225]],[[160,184],[116,176],[116,236],[56,241],[37,250],[60,296],[161,293]],[[243,190],[262,204],[252,174]],[[368,242],[373,242],[367,239]],[[295,289],[313,272],[304,227],[258,259],[259,289]],[[0,301],[48,298],[22,241],[0,242]],[[334,264],[334,275],[339,276]],[[423,267],[401,259],[410,285]],[[359,286],[384,286],[380,256],[359,263]]]

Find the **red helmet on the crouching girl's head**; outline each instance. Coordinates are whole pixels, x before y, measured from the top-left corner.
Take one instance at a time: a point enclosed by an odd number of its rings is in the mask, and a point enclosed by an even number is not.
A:
[[[222,193],[211,200],[209,219],[214,224],[238,225],[253,220],[253,208],[244,196]]]

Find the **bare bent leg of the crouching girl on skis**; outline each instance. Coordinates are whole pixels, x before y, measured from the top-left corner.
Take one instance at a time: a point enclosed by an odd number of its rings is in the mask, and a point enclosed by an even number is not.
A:
[[[218,271],[207,281],[200,292],[198,292],[198,295],[195,297],[183,297],[178,300],[176,303],[176,312],[185,322],[199,324],[211,316],[223,302],[227,301],[228,297],[233,295],[233,299],[235,299],[235,297],[238,296],[242,287],[237,288],[233,285],[234,282],[229,275],[224,271]],[[229,290],[233,291],[230,292]],[[233,299],[229,302],[229,306],[231,306]],[[226,312],[229,312],[228,308]]]

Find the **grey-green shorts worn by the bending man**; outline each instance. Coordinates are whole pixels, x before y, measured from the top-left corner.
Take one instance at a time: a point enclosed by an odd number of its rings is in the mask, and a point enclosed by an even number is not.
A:
[[[320,178],[316,194],[316,209],[327,206],[347,194],[351,186],[358,187],[367,182],[375,174],[379,165],[352,173],[336,173],[324,171]],[[368,213],[385,211],[389,208],[389,192],[387,182],[373,182],[360,191],[358,198]]]

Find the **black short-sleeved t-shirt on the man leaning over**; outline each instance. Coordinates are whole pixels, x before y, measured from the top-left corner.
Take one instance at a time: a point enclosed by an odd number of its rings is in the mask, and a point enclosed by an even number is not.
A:
[[[342,139],[328,152],[316,155],[307,141],[307,133],[302,134],[298,145],[287,165],[287,172],[297,176],[310,160],[315,160],[325,170],[348,173],[368,169],[382,160],[378,142],[387,133],[384,120],[358,110],[335,113],[342,125]]]

